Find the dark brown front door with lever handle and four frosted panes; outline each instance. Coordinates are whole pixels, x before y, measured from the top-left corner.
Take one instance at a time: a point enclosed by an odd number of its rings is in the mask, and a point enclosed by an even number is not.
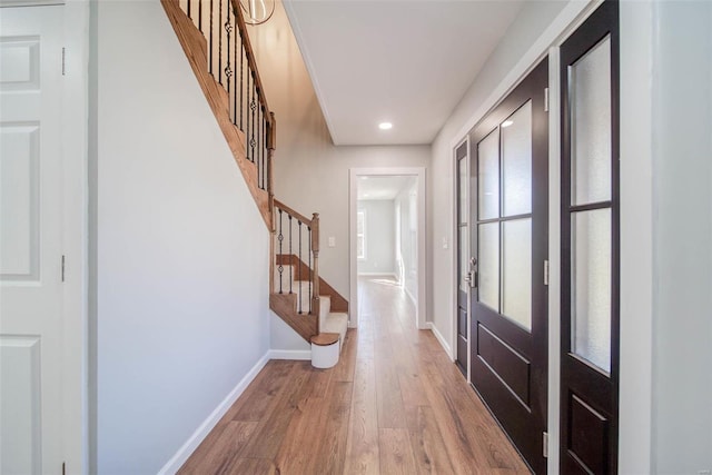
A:
[[[469,136],[472,384],[535,473],[546,472],[547,86],[545,59]]]

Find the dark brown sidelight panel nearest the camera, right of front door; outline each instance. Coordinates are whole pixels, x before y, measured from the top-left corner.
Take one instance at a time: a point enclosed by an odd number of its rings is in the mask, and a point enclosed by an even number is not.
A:
[[[561,471],[617,473],[619,34],[605,1],[561,47]]]

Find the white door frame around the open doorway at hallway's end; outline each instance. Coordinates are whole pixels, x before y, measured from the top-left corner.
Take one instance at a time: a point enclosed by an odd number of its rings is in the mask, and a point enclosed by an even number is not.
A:
[[[350,296],[348,304],[348,326],[356,328],[358,326],[358,271],[356,261],[356,206],[358,201],[358,179],[362,176],[414,176],[417,177],[417,206],[418,206],[418,225],[417,225],[417,243],[418,243],[418,297],[415,306],[416,324],[419,329],[429,328],[427,323],[427,289],[425,287],[425,276],[427,275],[425,249],[426,249],[426,232],[425,232],[425,168],[423,167],[385,167],[385,168],[350,168],[348,170],[348,186],[349,186],[349,199],[348,199],[348,263],[349,263],[349,279],[350,279]]]

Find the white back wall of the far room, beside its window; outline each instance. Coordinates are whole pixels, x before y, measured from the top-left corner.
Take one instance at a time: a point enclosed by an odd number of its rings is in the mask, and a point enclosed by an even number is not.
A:
[[[392,199],[359,200],[365,211],[366,258],[358,259],[358,274],[395,274],[396,221]]]

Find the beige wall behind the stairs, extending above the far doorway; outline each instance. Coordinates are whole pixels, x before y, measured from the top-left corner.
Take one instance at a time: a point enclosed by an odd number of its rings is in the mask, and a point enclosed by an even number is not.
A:
[[[348,299],[348,170],[427,167],[431,147],[335,147],[281,3],[267,23],[249,32],[277,118],[275,195],[305,216],[319,212],[319,275]],[[336,238],[333,248],[329,236]]]

